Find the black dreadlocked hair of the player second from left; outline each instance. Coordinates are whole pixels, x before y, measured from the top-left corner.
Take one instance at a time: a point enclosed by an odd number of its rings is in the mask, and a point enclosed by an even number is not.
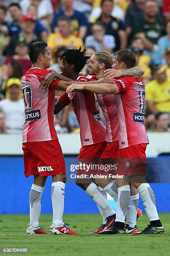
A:
[[[66,60],[69,64],[73,64],[75,67],[75,71],[77,73],[87,64],[87,59],[90,57],[85,56],[85,51],[81,51],[81,46],[79,49],[67,49],[61,55],[60,60]]]

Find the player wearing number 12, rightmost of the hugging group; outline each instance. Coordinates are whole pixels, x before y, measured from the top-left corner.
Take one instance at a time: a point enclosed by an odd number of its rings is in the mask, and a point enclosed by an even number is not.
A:
[[[117,51],[114,56],[114,69],[127,69],[135,66],[135,53],[128,49]],[[125,77],[115,80],[112,84],[72,84],[67,87],[67,92],[74,90],[89,90],[100,94],[115,94],[117,104],[117,117],[120,125],[119,154],[122,159],[145,159],[148,136],[144,125],[145,113],[145,84],[139,77]],[[125,173],[128,176],[128,167]],[[143,177],[144,170],[138,168],[136,177]],[[131,169],[130,171],[131,172]],[[140,176],[141,175],[141,176]],[[130,187],[128,176],[120,181],[116,179],[118,187],[118,200],[116,209],[116,220],[113,226],[100,232],[100,234],[124,234],[125,233],[125,215],[130,204]],[[141,179],[140,179],[141,180]],[[155,205],[155,195],[148,183],[133,183],[143,200],[145,211],[150,220],[150,225],[143,231],[136,234],[158,234],[164,233],[164,228],[160,222]],[[107,191],[107,190],[106,190]]]

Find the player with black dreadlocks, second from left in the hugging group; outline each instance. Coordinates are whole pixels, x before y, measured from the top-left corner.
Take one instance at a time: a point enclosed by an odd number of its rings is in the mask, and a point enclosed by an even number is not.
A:
[[[105,58],[107,56],[105,55]],[[79,77],[80,70],[85,66],[87,57],[85,51],[67,49],[61,56],[60,66],[62,75],[78,82],[90,82],[96,77],[85,74]],[[107,68],[111,67],[110,60],[106,61]],[[103,76],[104,77],[104,76]],[[107,143],[105,142],[105,125],[100,120],[100,112],[95,106],[95,95],[92,92],[84,91],[81,93],[73,92],[68,96],[65,92],[55,106],[55,114],[71,102],[77,120],[80,124],[81,145],[78,159],[100,158],[102,151]],[[95,129],[94,129],[95,128]],[[96,231],[100,232],[106,225],[111,225],[115,220],[115,211],[110,207],[105,197],[106,193],[89,179],[76,179],[76,184],[90,195],[92,200],[97,203],[97,207],[103,218],[103,225]]]

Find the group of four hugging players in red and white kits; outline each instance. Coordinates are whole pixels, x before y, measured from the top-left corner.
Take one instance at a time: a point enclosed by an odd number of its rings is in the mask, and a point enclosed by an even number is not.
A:
[[[34,175],[29,197],[30,224],[27,233],[47,233],[39,225],[40,200],[47,176],[51,175],[53,220],[50,231],[56,234],[78,234],[62,221],[65,163],[53,125],[53,114],[59,113],[70,103],[80,124],[82,147],[78,159],[119,159],[120,172],[124,174],[121,179],[96,179],[95,183],[89,179],[76,179],[76,184],[96,202],[103,218],[100,228],[90,233],[163,233],[154,192],[145,181],[145,168],[140,166],[146,158],[148,136],[144,125],[145,84],[139,77],[143,70],[135,67],[135,53],[123,49],[117,51],[112,60],[107,52],[95,51],[88,62],[90,72],[83,75],[80,75],[80,70],[88,57],[81,49],[63,52],[60,66],[62,74],[47,70],[51,56],[46,43],[31,44],[29,57],[32,68],[21,79],[25,103],[25,176]],[[65,91],[56,104],[55,90]],[[100,120],[95,95],[106,126]],[[135,159],[142,160],[134,166]],[[116,212],[108,204],[106,192],[117,202]],[[141,232],[136,225],[139,194],[150,220],[150,224]]]

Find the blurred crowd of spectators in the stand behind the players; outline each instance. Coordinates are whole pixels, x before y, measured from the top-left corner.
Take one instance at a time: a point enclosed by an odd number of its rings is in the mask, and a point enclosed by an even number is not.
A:
[[[132,49],[145,69],[146,128],[170,131],[170,0],[0,0],[0,133],[22,132],[20,78],[31,67],[34,41],[47,42],[57,72],[67,48],[86,47],[87,56]],[[80,131],[71,106],[54,122],[57,132]]]

